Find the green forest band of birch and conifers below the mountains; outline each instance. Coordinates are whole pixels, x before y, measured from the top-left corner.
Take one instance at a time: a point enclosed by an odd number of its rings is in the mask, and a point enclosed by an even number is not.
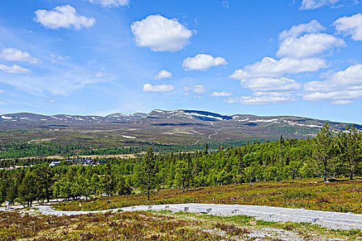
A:
[[[336,132],[325,123],[312,139],[256,141],[239,147],[159,154],[150,147],[137,158],[104,158],[102,165],[71,165],[0,170],[0,203],[35,200],[77,200],[121,196],[160,189],[188,191],[196,187],[265,182],[296,178],[333,181],[361,175],[362,133],[348,126]]]

